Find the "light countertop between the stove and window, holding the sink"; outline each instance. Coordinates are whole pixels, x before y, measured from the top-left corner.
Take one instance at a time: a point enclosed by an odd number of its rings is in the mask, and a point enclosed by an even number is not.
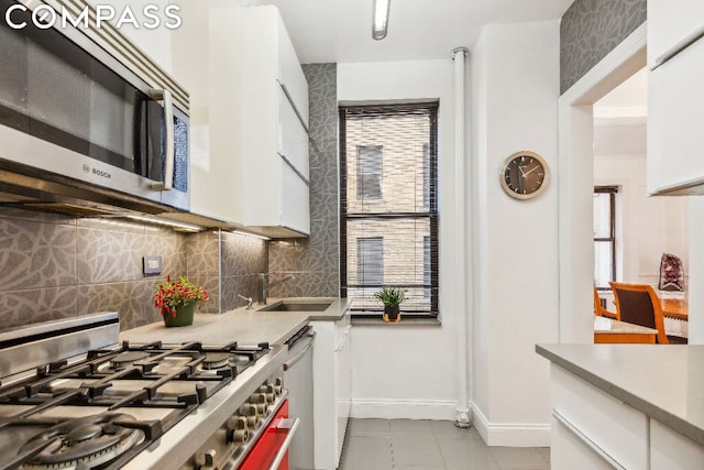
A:
[[[286,302],[306,302],[307,297],[294,297]],[[318,299],[318,298],[317,298]],[[163,321],[144,325],[120,334],[120,341],[182,343],[200,341],[206,346],[221,346],[232,341],[240,345],[268,342],[280,345],[310,320],[337,320],[348,309],[346,298],[329,298],[330,307],[323,311],[257,311],[245,307],[224,314],[196,314],[194,324],[186,327],[166,328]],[[270,298],[268,305],[282,299]]]

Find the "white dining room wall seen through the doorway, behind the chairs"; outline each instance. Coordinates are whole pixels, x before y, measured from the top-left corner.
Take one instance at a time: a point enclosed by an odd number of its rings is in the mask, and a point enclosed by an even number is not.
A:
[[[648,197],[645,155],[595,155],[594,184],[619,187],[618,281],[657,285],[664,252],[680,256],[688,272],[689,198]]]

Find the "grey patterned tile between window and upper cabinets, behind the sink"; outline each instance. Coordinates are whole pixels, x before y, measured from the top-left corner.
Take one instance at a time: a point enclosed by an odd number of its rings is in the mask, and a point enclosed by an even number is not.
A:
[[[340,292],[337,64],[302,66],[310,109],[310,237],[270,242],[273,297],[337,297]]]

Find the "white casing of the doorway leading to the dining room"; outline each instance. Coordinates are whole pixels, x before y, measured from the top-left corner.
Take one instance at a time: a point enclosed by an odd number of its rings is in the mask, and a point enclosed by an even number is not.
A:
[[[593,342],[594,103],[645,66],[644,24],[559,99],[560,342]]]

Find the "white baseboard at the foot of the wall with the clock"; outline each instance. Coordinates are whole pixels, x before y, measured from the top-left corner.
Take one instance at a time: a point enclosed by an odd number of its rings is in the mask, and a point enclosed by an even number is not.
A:
[[[487,446],[550,446],[549,423],[490,423],[484,413],[474,403],[471,406],[473,425]]]

